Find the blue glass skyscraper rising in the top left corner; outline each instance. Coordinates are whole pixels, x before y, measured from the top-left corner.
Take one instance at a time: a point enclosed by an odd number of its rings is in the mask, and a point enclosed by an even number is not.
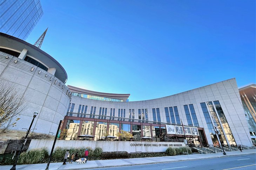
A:
[[[0,0],[0,32],[26,40],[42,15],[40,0]]]

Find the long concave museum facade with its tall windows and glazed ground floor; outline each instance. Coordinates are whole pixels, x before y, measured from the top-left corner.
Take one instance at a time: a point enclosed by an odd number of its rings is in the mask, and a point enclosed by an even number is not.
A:
[[[235,78],[146,101],[111,102],[72,95],[62,128],[68,129],[66,140],[86,134],[95,136],[90,140],[103,140],[109,134],[118,139],[116,134],[124,130],[138,139],[147,136],[157,141],[168,128],[177,127],[176,133],[167,133],[168,139],[177,141],[183,140],[177,133],[181,121],[191,131],[198,130],[194,137],[187,135],[194,144],[252,146]]]

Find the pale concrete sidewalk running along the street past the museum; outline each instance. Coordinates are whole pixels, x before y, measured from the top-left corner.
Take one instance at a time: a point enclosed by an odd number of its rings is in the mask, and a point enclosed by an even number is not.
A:
[[[121,167],[121,166],[130,166],[130,165],[143,165],[143,164],[154,164],[154,163],[167,163],[167,162],[177,162],[177,161],[186,161],[186,160],[197,160],[197,159],[206,159],[206,158],[216,158],[216,157],[228,157],[235,155],[247,155],[255,154],[256,149],[244,149],[241,151],[229,151],[227,155],[222,153],[216,154],[192,154],[189,155],[177,155],[177,156],[163,156],[163,157],[147,157],[147,158],[129,158],[129,159],[118,159],[118,160],[95,160],[87,161],[84,164],[78,164],[76,162],[66,165],[62,163],[50,163],[49,170],[80,170],[80,169],[93,169],[93,168],[106,168],[106,167]],[[46,163],[41,164],[28,164],[28,165],[17,165],[17,170],[45,170]],[[12,168],[12,165],[2,165],[0,166],[1,170],[9,170]]]

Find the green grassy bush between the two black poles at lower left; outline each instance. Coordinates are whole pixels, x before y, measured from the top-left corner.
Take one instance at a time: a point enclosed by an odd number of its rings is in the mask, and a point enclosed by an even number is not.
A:
[[[45,148],[32,149],[26,152],[22,152],[19,157],[18,164],[34,164],[43,160],[48,156],[48,152]]]

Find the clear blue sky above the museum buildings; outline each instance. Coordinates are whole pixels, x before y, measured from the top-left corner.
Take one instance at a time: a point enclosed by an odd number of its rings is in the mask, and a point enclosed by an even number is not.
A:
[[[254,0],[41,0],[41,50],[66,70],[66,85],[165,97],[236,78],[256,83]]]

